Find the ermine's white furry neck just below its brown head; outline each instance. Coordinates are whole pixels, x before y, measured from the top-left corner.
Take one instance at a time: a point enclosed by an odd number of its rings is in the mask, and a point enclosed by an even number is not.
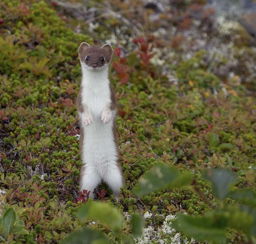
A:
[[[108,67],[101,70],[89,70],[82,68],[82,83],[83,87],[99,87],[108,85]]]

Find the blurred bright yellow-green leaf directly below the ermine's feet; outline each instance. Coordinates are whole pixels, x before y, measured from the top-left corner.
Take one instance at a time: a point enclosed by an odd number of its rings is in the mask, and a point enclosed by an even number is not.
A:
[[[85,203],[77,213],[81,219],[100,220],[114,232],[118,233],[122,229],[123,217],[118,209],[104,202]]]

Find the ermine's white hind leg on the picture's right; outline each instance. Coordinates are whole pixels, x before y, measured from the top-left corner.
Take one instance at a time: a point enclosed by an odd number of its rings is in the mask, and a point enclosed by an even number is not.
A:
[[[119,165],[113,161],[107,166],[107,172],[103,176],[103,180],[108,184],[108,187],[113,191],[116,200],[119,200],[120,187],[123,186],[123,174]]]

